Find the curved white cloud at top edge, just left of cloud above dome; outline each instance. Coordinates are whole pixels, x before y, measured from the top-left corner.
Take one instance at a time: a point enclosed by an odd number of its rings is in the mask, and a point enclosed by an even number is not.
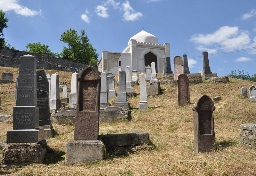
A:
[[[108,18],[108,8],[109,6],[112,6],[114,9],[117,9],[119,7],[120,3],[116,3],[114,0],[107,0],[103,5],[98,5],[95,9],[95,12],[98,16],[103,18]]]

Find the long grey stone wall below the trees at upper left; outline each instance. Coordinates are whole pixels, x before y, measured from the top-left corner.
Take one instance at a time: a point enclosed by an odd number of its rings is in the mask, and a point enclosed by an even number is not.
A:
[[[45,55],[43,55],[32,52],[0,48],[0,66],[19,68],[20,56],[27,54],[36,57],[36,68],[39,69],[78,72],[78,70],[83,69],[89,65],[84,62],[51,57],[49,56],[49,53],[45,53]],[[98,69],[97,66],[95,66],[95,68]]]

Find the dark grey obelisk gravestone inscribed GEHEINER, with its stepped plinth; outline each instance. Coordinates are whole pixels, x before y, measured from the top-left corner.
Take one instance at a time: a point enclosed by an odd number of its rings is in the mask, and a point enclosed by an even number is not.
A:
[[[7,131],[6,142],[39,142],[44,130],[39,129],[39,107],[36,106],[36,58],[20,57],[16,106],[13,107],[13,130]]]

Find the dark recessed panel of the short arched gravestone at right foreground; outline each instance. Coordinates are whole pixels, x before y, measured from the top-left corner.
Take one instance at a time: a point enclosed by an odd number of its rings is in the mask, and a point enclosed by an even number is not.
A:
[[[212,131],[212,111],[199,112],[200,134],[211,134]]]

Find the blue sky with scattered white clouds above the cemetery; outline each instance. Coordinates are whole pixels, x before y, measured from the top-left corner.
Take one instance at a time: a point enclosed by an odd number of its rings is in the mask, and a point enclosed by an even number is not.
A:
[[[218,76],[237,68],[256,73],[256,1],[0,0],[0,8],[9,19],[5,39],[17,50],[41,42],[61,52],[65,30],[85,29],[100,59],[103,50],[122,52],[143,27],[171,44],[172,69],[173,58],[187,54],[190,72],[198,73],[208,51]]]

